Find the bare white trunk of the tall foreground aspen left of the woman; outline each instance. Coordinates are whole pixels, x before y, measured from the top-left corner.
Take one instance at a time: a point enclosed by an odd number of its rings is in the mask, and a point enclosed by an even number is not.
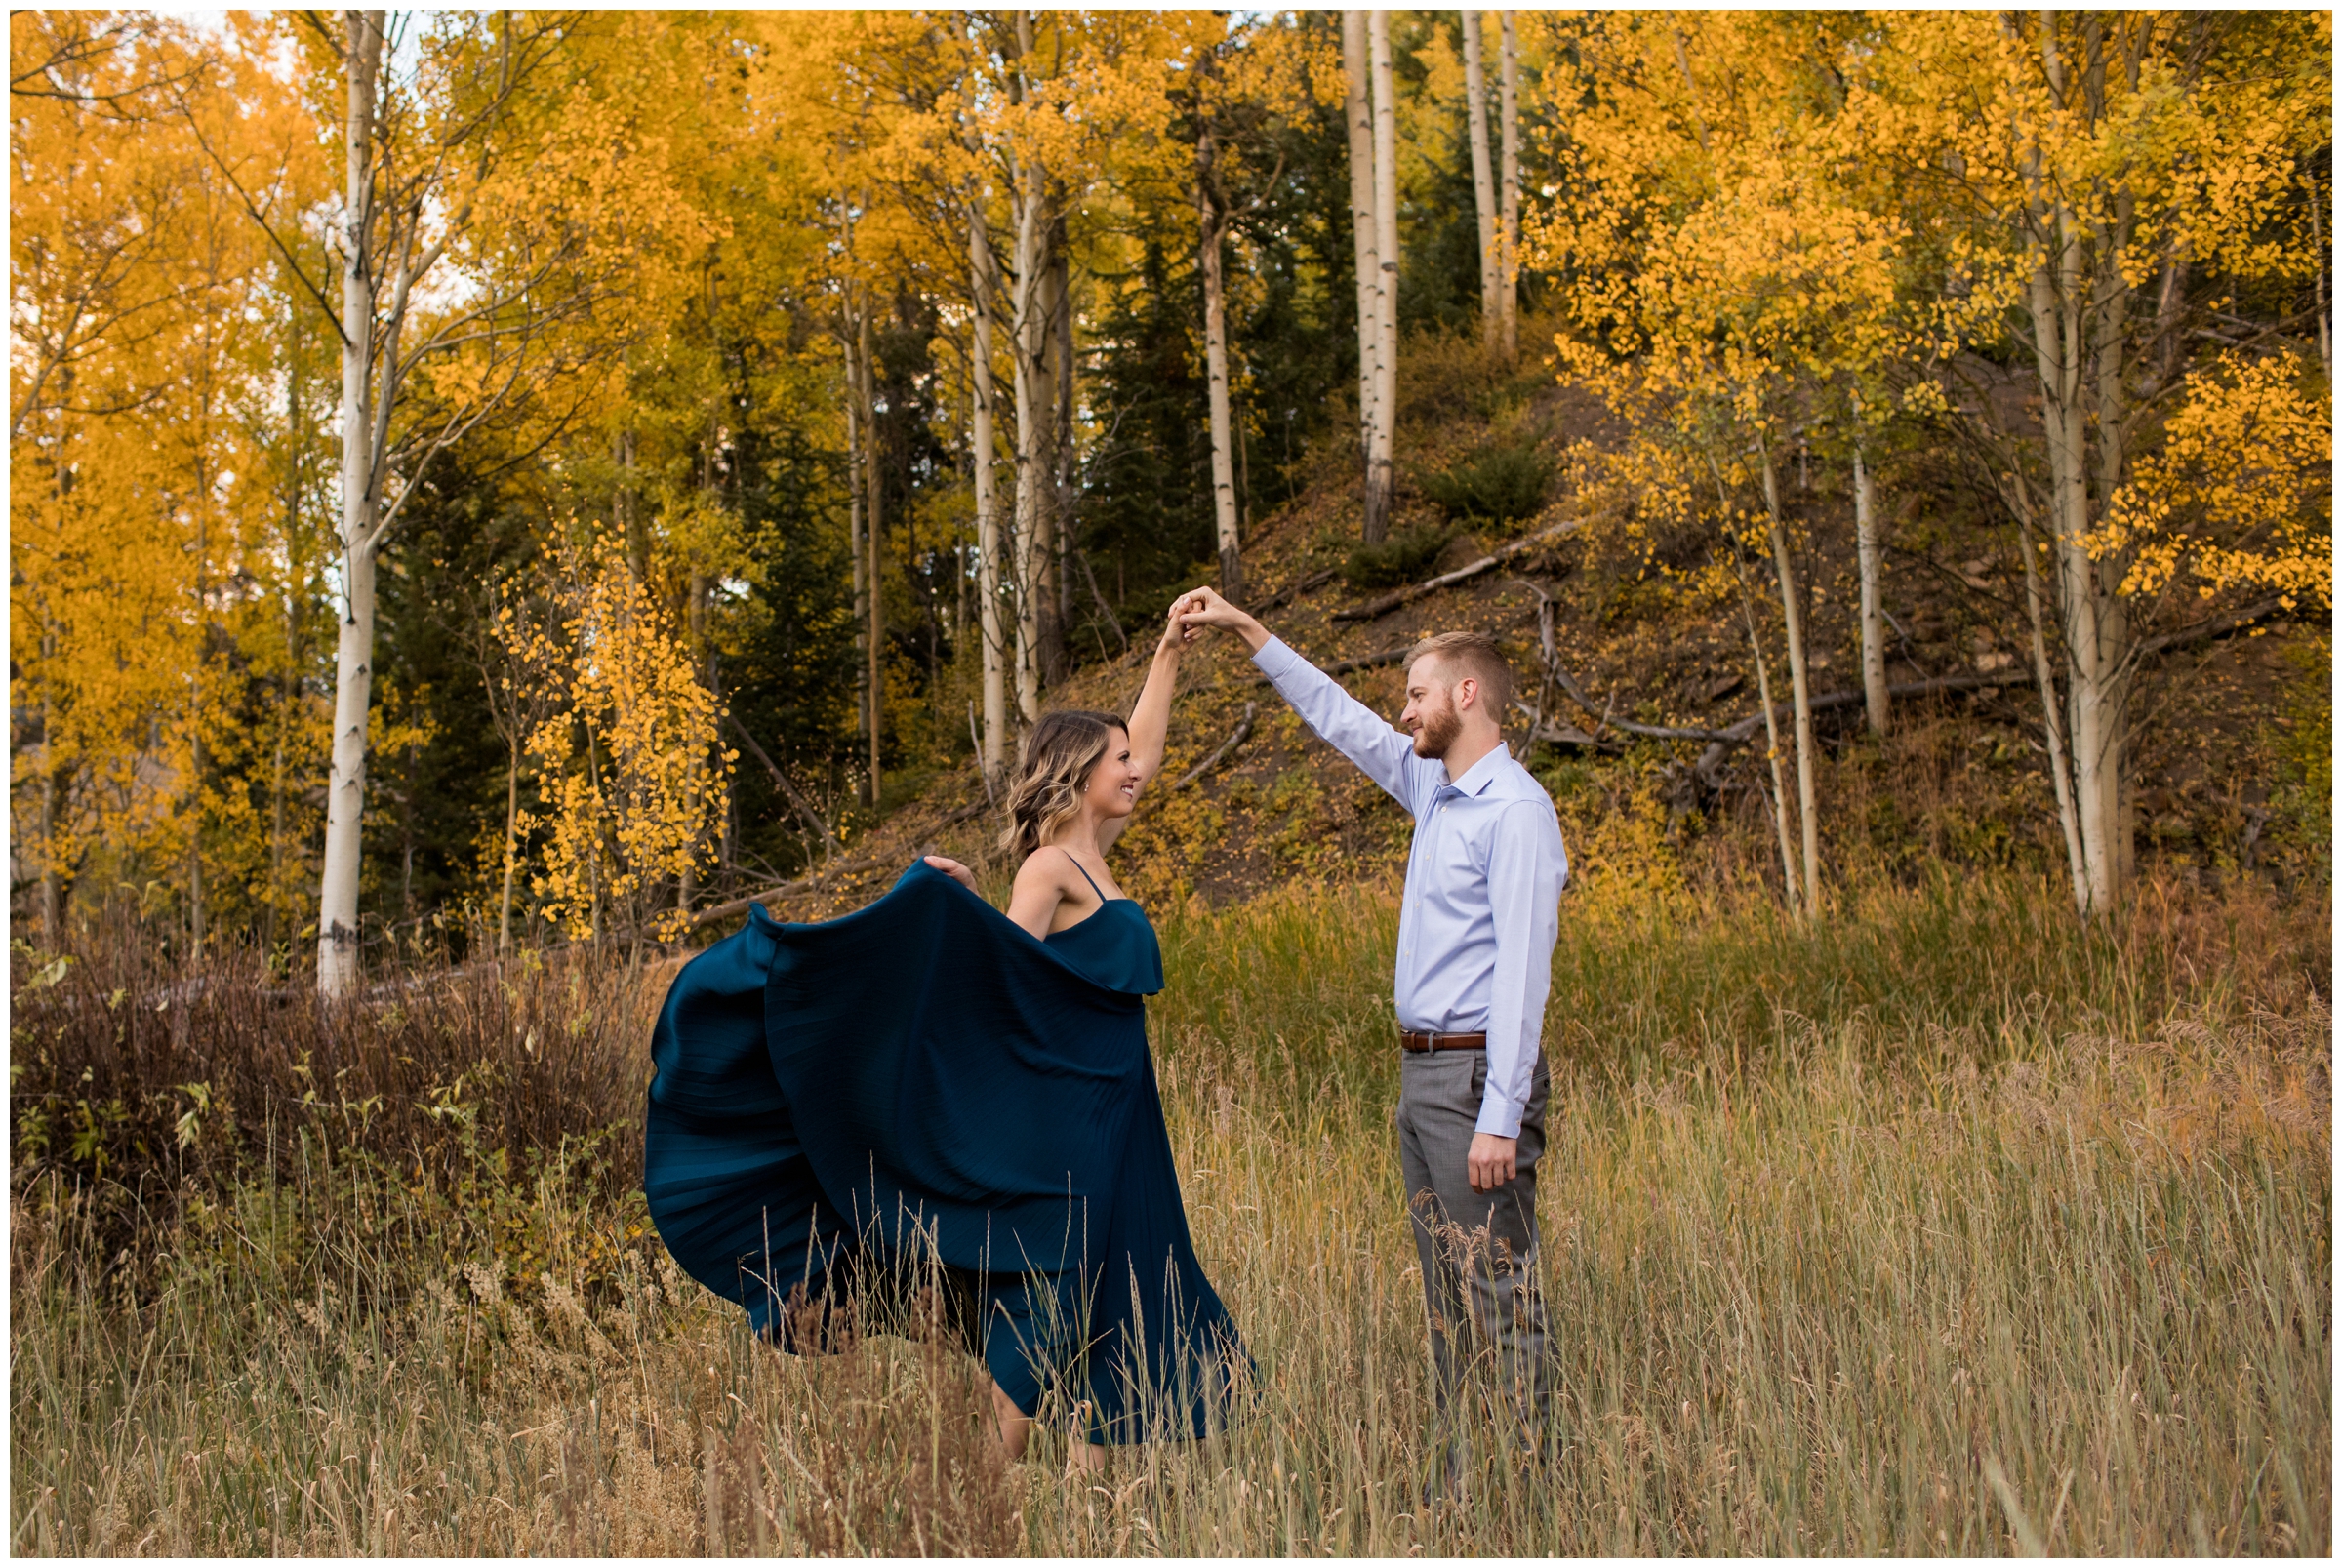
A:
[[[370,253],[375,77],[382,12],[344,12],[349,108],[344,119],[342,255],[342,625],[333,651],[333,770],[326,779],[326,854],[319,875],[316,990],[347,997],[358,983],[358,861],[365,821],[365,714],[375,683],[375,286]]]

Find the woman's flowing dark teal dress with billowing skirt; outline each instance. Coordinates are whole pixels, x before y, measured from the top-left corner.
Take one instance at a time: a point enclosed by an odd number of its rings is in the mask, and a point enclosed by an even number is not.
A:
[[[1227,1418],[1244,1348],[1194,1257],[1129,899],[1035,941],[925,861],[864,910],[749,910],[674,978],[642,1191],[667,1252],[785,1348],[824,1301],[944,1266],[960,1332],[1028,1416],[1098,1442]],[[815,1311],[806,1311],[815,1308]]]

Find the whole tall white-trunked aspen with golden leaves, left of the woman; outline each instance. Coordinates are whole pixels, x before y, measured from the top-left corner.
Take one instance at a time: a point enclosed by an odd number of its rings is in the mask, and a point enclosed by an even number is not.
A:
[[[431,47],[412,51],[391,51],[386,26],[386,12],[351,9],[337,23],[309,16],[309,35],[342,70],[344,159],[340,302],[302,276],[342,339],[342,613],[319,873],[319,992],[328,999],[358,978],[382,555],[438,454],[522,412],[555,363],[593,358],[586,339],[560,353],[553,339],[593,321],[621,269],[667,234],[705,234],[660,159],[621,159],[609,136],[534,101],[548,63],[569,47],[567,19],[440,14],[429,21],[438,28]],[[576,101],[567,108],[588,112]],[[201,115],[187,122],[204,136]],[[274,192],[239,183],[208,138],[206,157],[279,255],[295,255]],[[468,288],[433,276],[452,255]],[[431,377],[438,396],[419,400]]]

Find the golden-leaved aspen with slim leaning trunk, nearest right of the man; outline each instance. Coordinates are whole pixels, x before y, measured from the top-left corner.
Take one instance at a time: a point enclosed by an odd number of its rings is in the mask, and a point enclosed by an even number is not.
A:
[[[1593,105],[1571,115],[1588,176],[1576,243],[1604,257],[1567,302],[1611,346],[1571,342],[1564,360],[1635,424],[1635,445],[1679,445],[1717,475],[1717,527],[1733,536],[1754,487],[1773,564],[1789,665],[1799,803],[1801,908],[1820,910],[1820,754],[1813,730],[1806,585],[1780,494],[1780,454],[1824,388],[1899,351],[1892,253],[1897,229],[1831,183],[1838,159],[1796,119],[1771,19],[1682,16],[1642,70],[1602,49]],[[1663,37],[1663,42],[1660,42]],[[1698,59],[1698,66],[1696,66]],[[1775,75],[1768,75],[1775,73]],[[1752,119],[1768,115],[1775,119]],[[1637,211],[1639,208],[1639,211]],[[1738,557],[1735,557],[1738,559]]]

